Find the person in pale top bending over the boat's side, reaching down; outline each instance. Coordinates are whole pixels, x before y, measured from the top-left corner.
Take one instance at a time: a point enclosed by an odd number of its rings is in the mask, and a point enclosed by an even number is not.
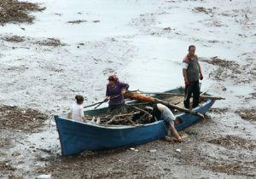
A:
[[[173,131],[174,135],[177,137],[177,140],[182,141],[182,137],[179,136],[174,126],[174,123],[177,124],[177,118],[173,115],[172,111],[168,107],[160,103],[154,104],[152,114],[154,118],[163,119],[166,121],[166,123],[169,123],[170,130]]]

